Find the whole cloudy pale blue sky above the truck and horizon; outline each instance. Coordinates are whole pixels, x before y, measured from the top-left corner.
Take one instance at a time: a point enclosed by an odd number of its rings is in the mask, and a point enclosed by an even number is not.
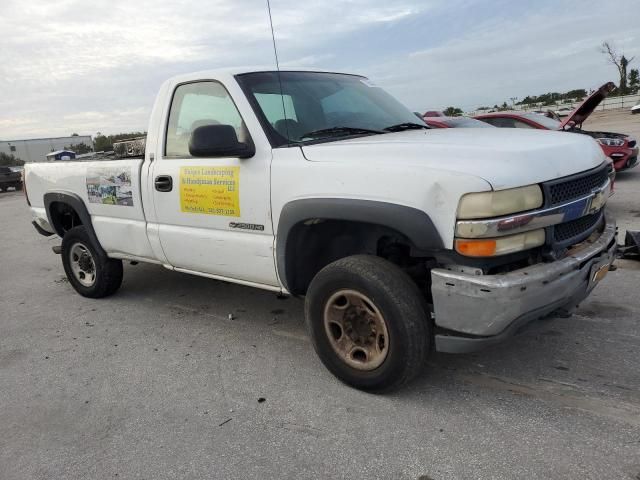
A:
[[[1,0],[0,139],[145,130],[167,77],[273,66],[266,0]],[[638,0],[272,0],[281,65],[361,73],[409,108],[617,81]]]

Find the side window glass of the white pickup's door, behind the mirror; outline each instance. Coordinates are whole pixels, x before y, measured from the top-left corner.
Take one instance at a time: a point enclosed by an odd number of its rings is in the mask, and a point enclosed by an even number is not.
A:
[[[190,157],[189,139],[193,131],[206,125],[231,125],[238,140],[248,140],[247,128],[229,92],[219,82],[197,82],[176,88],[171,102],[165,155]]]

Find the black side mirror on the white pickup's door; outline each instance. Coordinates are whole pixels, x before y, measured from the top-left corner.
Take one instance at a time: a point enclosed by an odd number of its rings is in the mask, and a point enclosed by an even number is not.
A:
[[[238,141],[231,125],[203,125],[191,133],[189,153],[194,157],[253,157],[253,143]]]

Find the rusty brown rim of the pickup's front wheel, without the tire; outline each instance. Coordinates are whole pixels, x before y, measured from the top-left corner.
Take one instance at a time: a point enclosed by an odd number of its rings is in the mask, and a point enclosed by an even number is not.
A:
[[[350,367],[374,370],[387,358],[387,324],[378,307],[360,292],[339,290],[331,295],[324,327],[334,352]]]

